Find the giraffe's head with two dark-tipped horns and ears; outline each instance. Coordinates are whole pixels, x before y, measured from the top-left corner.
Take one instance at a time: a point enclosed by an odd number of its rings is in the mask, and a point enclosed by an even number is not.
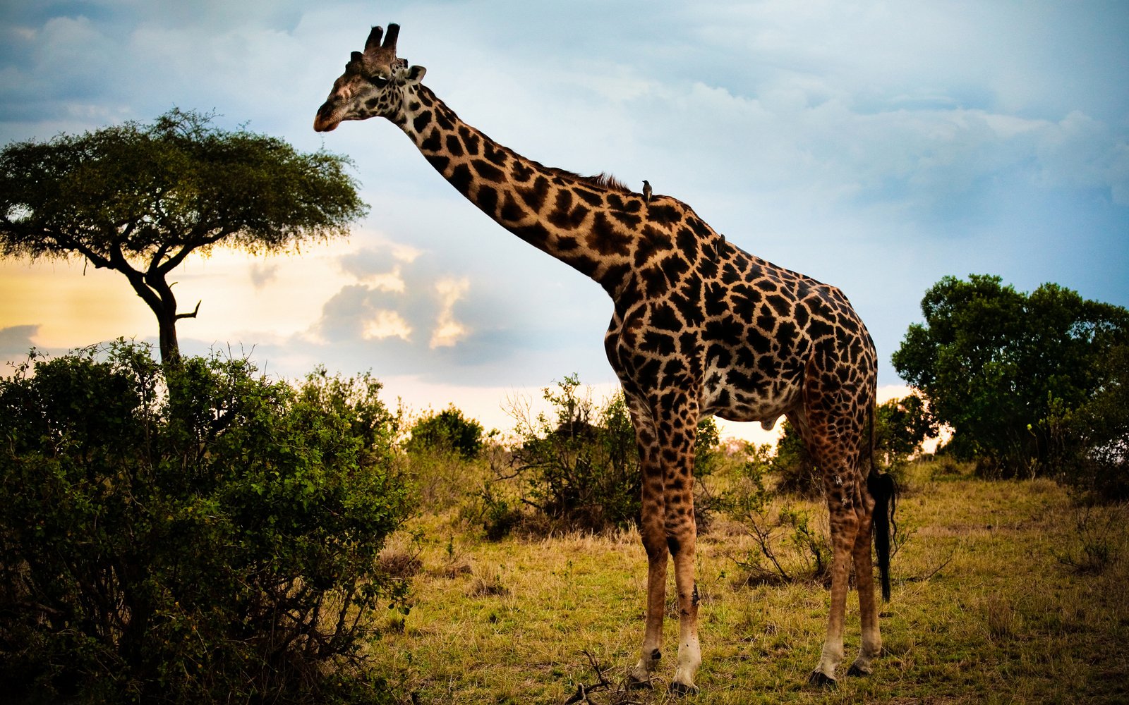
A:
[[[333,90],[317,109],[314,130],[329,132],[343,120],[366,120],[376,115],[396,121],[404,113],[406,88],[420,82],[427,69],[408,65],[396,58],[400,25],[373,27],[365,51],[353,52],[345,72],[333,82]],[[380,42],[380,37],[384,42]]]

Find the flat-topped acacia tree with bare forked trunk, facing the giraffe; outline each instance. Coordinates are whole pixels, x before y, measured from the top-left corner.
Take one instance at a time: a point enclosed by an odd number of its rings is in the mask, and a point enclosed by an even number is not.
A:
[[[0,153],[0,256],[85,257],[125,275],[157,317],[161,360],[178,356],[169,274],[213,247],[285,252],[348,233],[366,212],[350,161],[304,153],[211,114],[173,108]]]

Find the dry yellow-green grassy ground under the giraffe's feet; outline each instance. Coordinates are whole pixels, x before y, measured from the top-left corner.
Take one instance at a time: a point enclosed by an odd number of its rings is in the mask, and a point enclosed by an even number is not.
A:
[[[596,686],[593,704],[680,702],[666,693],[673,576],[659,680],[653,691],[622,689],[644,628],[636,531],[488,541],[458,499],[480,478],[429,473],[428,509],[385,553],[414,573],[411,611],[382,617],[370,647],[396,698],[563,704],[583,684]],[[684,702],[1129,702],[1129,508],[1086,508],[1047,479],[989,482],[952,464],[912,465],[902,485],[883,658],[870,677],[846,676],[859,646],[852,591],[839,685],[806,686],[828,590],[744,584],[741,564],[759,548],[718,517],[698,544],[701,694]],[[800,504],[825,530],[820,503]]]

